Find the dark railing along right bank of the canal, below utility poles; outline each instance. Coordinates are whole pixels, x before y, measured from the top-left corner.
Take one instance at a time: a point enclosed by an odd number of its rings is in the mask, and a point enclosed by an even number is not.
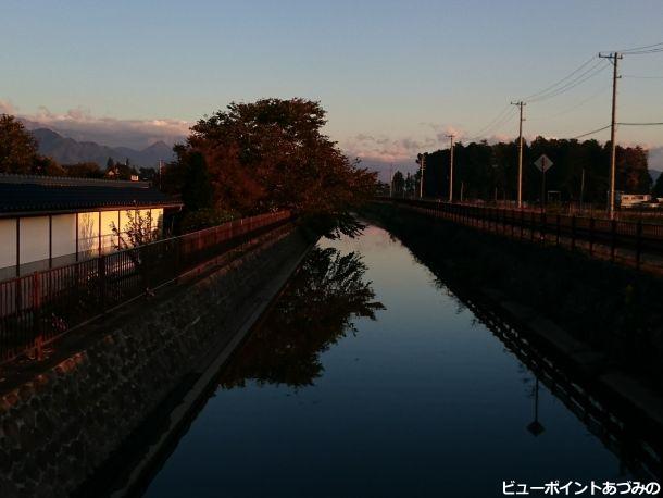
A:
[[[589,256],[660,273],[663,225],[431,200],[379,198],[434,217],[542,244],[584,250]]]

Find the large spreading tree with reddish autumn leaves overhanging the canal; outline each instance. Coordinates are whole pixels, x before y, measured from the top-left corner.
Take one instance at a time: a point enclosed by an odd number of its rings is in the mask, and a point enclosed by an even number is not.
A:
[[[205,170],[217,210],[288,209],[329,235],[351,233],[351,211],[373,195],[377,175],[323,135],[325,123],[325,111],[310,100],[233,102],[191,128],[186,145],[174,149],[179,173],[168,176],[179,176],[184,188],[187,174]]]

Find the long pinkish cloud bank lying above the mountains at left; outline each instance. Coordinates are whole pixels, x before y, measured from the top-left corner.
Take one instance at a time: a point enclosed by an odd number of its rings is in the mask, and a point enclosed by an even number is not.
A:
[[[51,128],[78,141],[96,141],[111,147],[143,148],[162,140],[168,145],[182,141],[192,123],[183,120],[120,120],[95,116],[85,108],[71,109],[63,114],[40,107],[35,114],[22,114],[9,102],[0,101],[0,112],[21,117],[30,129]]]

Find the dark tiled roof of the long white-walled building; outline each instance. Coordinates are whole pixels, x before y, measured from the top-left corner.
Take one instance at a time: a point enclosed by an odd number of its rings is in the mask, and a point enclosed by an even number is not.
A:
[[[134,206],[182,206],[182,202],[147,187],[54,186],[0,182],[0,216],[20,212],[79,211]]]

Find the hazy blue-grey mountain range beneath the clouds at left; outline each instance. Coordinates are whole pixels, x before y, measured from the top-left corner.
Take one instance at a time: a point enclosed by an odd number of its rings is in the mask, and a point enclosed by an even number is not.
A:
[[[49,128],[32,130],[39,144],[39,153],[54,159],[61,164],[77,162],[96,162],[105,166],[109,158],[125,161],[127,158],[134,166],[155,167],[159,160],[171,161],[173,149],[163,141],[157,141],[142,150],[129,147],[108,147],[95,141],[76,141],[66,138]]]

